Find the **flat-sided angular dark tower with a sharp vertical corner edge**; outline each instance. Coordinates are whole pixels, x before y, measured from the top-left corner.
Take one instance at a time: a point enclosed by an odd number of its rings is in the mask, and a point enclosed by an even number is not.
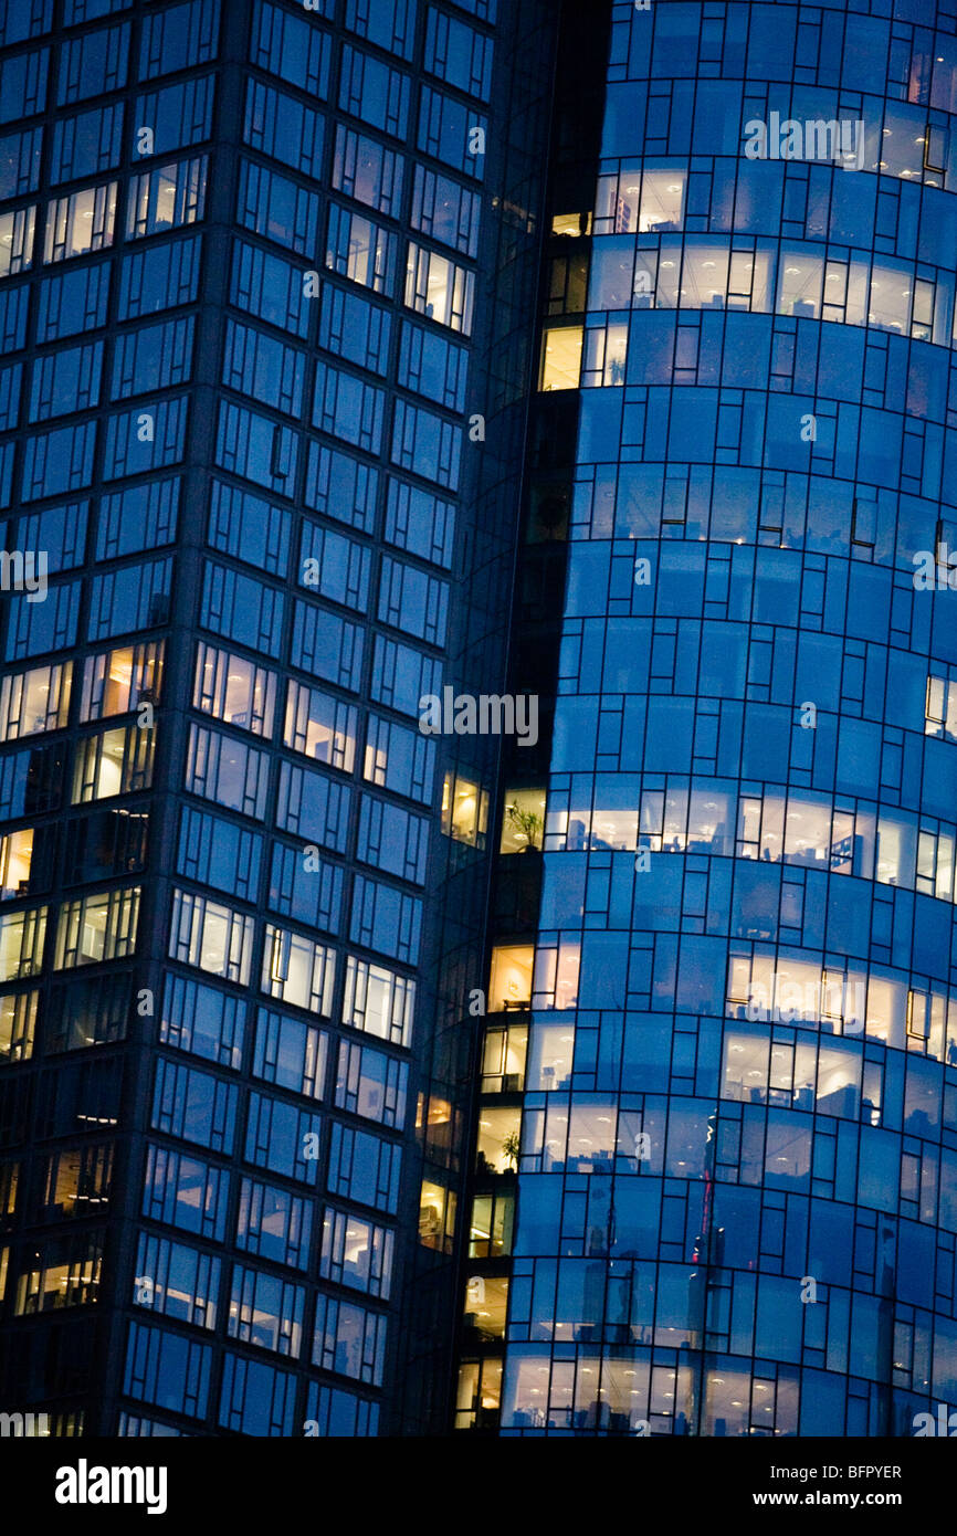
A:
[[[0,5],[0,1404],[57,1433],[386,1433],[416,1264],[453,1313],[496,9]]]

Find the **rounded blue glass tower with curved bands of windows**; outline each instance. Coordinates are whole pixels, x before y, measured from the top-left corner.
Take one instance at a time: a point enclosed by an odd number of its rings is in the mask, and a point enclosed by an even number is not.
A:
[[[472,1249],[504,1435],[957,1405],[957,40],[865,11],[616,3],[578,203],[558,158],[567,584]]]

